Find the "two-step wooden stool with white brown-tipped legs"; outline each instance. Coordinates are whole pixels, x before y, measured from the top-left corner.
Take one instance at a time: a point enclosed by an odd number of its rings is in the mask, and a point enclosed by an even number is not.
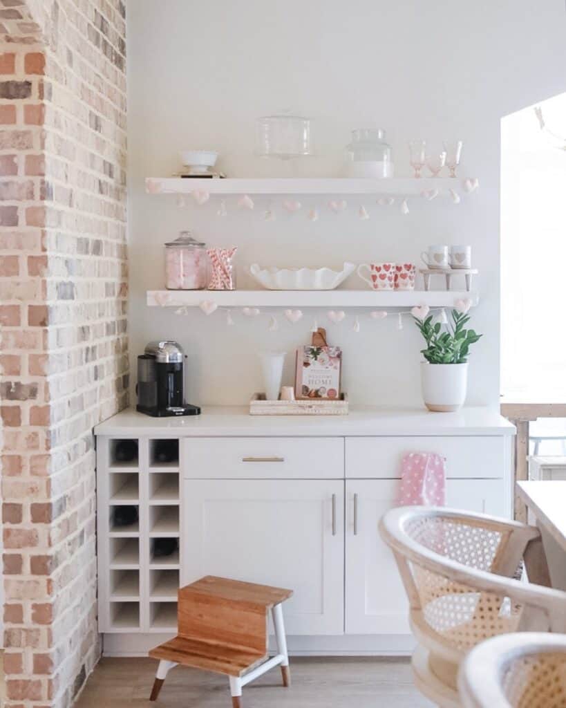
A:
[[[230,678],[233,708],[241,708],[242,687],[274,666],[289,686],[289,657],[281,603],[292,590],[206,576],[180,588],[178,635],[151,649],[159,659],[149,700],[157,700],[168,671],[181,664]],[[267,658],[267,612],[272,610],[277,654]]]

